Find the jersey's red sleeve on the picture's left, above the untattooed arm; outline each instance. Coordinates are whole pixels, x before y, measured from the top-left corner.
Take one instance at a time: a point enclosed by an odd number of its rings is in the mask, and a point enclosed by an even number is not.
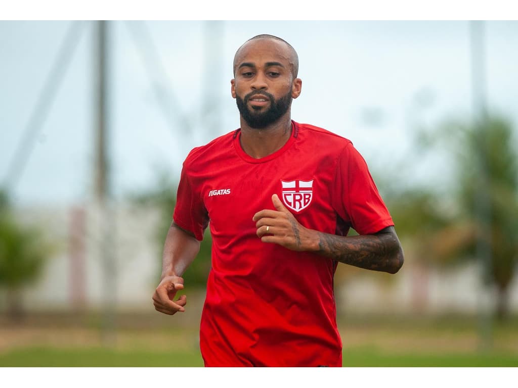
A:
[[[203,240],[203,232],[207,228],[209,217],[199,192],[191,183],[185,162],[180,175],[172,218],[180,228],[192,232],[196,240]]]

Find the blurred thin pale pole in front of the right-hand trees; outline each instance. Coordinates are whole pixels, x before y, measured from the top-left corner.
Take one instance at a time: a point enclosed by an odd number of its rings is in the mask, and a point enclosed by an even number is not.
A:
[[[475,215],[478,223],[476,253],[480,262],[481,282],[479,294],[479,337],[480,349],[486,351],[492,347],[492,303],[488,296],[487,283],[492,273],[491,253],[491,177],[487,168],[485,133],[489,130],[487,117],[487,91],[485,69],[484,22],[470,22],[471,41],[471,83],[473,98],[473,127],[476,129],[478,144],[478,184],[474,193]]]

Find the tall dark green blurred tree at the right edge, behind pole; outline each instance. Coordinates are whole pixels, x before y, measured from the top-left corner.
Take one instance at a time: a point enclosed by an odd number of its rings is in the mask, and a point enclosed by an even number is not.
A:
[[[518,261],[518,155],[512,126],[503,118],[492,118],[486,125],[457,124],[452,128],[459,135],[457,141],[465,144],[457,151],[458,198],[463,219],[472,231],[472,238],[454,247],[452,253],[473,257],[477,240],[487,240],[491,266],[486,280],[498,289],[497,316],[503,318],[508,313],[508,288]],[[486,220],[476,211],[481,160],[487,171]],[[484,229],[489,235],[483,235]]]

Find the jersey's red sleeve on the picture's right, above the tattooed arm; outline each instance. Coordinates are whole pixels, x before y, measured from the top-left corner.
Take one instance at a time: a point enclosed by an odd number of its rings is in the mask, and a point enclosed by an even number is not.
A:
[[[339,156],[335,182],[333,207],[358,234],[372,234],[394,225],[365,159],[352,143]]]

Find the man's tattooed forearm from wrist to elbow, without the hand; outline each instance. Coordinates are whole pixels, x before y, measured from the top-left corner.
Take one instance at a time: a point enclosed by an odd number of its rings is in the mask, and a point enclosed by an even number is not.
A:
[[[319,253],[341,263],[391,273],[399,270],[403,260],[392,233],[343,237],[319,232]]]

